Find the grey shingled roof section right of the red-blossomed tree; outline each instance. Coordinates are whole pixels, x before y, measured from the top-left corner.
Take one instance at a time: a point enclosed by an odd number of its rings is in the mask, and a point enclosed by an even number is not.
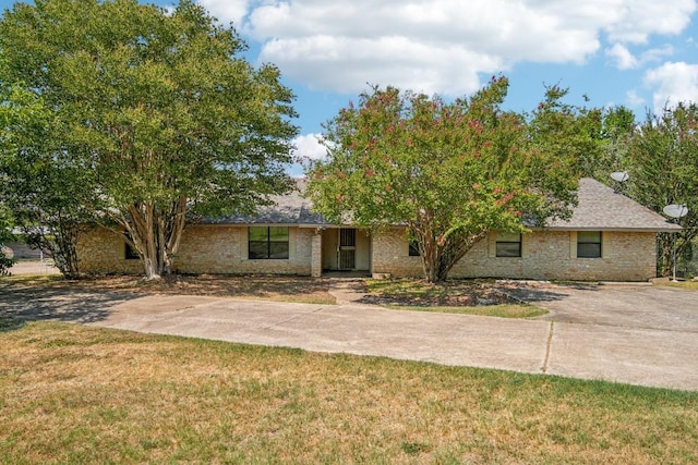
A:
[[[556,220],[551,230],[657,231],[681,230],[661,215],[591,178],[579,180],[578,205],[568,221]]]

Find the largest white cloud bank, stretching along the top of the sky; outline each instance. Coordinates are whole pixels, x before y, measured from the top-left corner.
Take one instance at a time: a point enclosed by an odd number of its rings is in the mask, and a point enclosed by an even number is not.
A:
[[[609,57],[635,68],[655,58],[628,45],[678,34],[696,11],[696,0],[201,1],[221,21],[244,20],[260,61],[312,89],[452,96],[519,62],[585,63],[605,40]]]

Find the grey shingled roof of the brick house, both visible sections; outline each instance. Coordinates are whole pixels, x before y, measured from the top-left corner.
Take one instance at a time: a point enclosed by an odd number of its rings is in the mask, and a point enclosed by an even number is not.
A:
[[[329,223],[311,211],[310,199],[303,197],[304,180],[298,180],[296,188],[286,195],[272,196],[273,205],[260,207],[254,216],[207,218],[206,223],[216,224],[287,224],[323,227]],[[556,220],[546,225],[549,230],[604,230],[671,232],[681,227],[669,222],[661,215],[615,192],[591,178],[579,181],[578,205],[568,221]]]

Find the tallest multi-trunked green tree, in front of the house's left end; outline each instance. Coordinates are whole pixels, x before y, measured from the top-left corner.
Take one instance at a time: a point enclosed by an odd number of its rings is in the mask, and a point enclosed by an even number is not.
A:
[[[197,4],[17,3],[0,23],[2,79],[53,112],[51,157],[127,232],[148,279],[171,270],[188,219],[251,212],[290,188],[293,96]],[[44,147],[37,143],[36,150]]]

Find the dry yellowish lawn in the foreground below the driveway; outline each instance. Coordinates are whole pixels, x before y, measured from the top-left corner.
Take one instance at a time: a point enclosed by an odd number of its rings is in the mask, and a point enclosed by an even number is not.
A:
[[[696,463],[698,393],[0,320],[0,463]]]

